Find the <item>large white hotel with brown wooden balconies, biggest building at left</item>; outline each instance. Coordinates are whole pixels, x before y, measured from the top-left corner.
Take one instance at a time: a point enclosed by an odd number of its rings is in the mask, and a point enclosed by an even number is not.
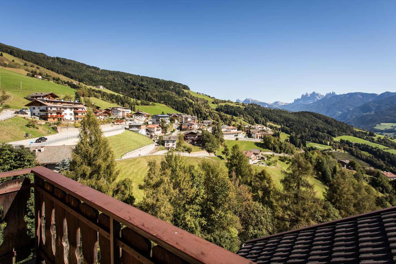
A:
[[[84,118],[87,107],[78,101],[64,101],[53,99],[58,97],[53,93],[34,93],[27,96],[30,103],[30,115],[46,121],[78,121]]]

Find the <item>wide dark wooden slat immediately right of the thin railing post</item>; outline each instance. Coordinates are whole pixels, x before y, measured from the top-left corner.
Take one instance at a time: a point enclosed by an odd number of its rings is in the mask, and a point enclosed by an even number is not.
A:
[[[149,239],[143,237],[142,235],[139,235],[138,233],[132,231],[129,228],[123,228],[121,230],[121,237],[122,241],[126,243],[126,245],[132,247],[143,256],[150,258],[151,242]],[[121,258],[123,264],[142,263],[139,261],[139,259],[131,256],[127,251],[124,250],[122,250]]]

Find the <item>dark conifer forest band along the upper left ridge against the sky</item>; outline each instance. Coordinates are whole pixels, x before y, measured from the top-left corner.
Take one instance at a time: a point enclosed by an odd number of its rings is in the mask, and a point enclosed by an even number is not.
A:
[[[217,115],[211,111],[206,100],[186,92],[185,90],[189,90],[188,86],[181,83],[120,71],[103,70],[70,59],[21,50],[2,43],[0,43],[0,51],[30,61],[84,84],[103,85],[111,91],[130,98],[164,103],[182,113],[197,115],[198,118],[207,118],[209,114],[211,116]]]

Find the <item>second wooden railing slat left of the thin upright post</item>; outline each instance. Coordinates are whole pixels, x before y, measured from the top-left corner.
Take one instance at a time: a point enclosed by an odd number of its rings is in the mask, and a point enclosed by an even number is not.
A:
[[[82,203],[79,206],[81,214],[86,216],[92,222],[97,222],[99,212],[87,205]],[[80,231],[82,241],[82,254],[84,256],[84,263],[93,264],[97,261],[97,241],[98,232],[92,229],[83,220],[80,220]]]

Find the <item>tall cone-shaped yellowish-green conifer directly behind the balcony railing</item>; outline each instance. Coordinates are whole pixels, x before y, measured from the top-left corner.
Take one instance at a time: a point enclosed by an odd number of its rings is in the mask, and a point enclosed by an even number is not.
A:
[[[116,170],[114,153],[90,108],[85,119],[81,121],[78,139],[65,175],[122,201],[134,201],[128,187],[132,185],[131,180],[117,182],[119,171]]]

